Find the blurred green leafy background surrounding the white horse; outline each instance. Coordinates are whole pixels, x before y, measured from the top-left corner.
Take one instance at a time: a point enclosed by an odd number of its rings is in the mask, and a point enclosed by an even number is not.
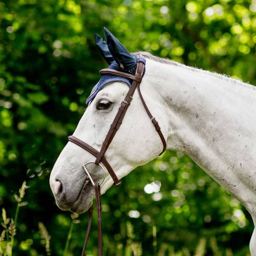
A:
[[[57,208],[49,174],[107,66],[95,32],[255,84],[255,11],[255,0],[0,1],[0,255],[11,240],[13,255],[82,251],[87,214]],[[102,205],[103,255],[249,255],[251,217],[182,153],[137,168]]]

